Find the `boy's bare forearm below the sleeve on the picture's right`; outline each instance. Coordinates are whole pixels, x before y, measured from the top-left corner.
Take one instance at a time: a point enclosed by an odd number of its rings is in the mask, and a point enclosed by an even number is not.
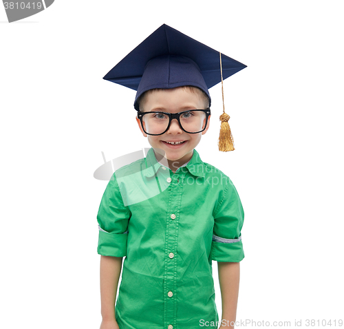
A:
[[[222,320],[226,321],[225,327],[220,328],[234,328],[230,323],[235,323],[237,316],[240,263],[217,262],[217,268],[222,297]]]

